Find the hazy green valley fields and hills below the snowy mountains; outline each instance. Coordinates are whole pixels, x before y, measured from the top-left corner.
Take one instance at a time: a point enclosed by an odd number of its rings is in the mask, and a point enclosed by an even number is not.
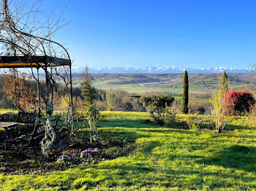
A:
[[[93,74],[99,89],[120,88],[129,93],[168,91],[182,93],[183,74]],[[189,74],[190,93],[213,93],[220,74]],[[255,85],[253,74],[228,74],[230,89],[249,90]]]

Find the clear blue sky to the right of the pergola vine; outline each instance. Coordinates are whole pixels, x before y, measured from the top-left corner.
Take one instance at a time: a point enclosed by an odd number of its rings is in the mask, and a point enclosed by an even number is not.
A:
[[[64,0],[45,0],[56,9]],[[70,0],[55,39],[75,67],[250,67],[256,1]]]

